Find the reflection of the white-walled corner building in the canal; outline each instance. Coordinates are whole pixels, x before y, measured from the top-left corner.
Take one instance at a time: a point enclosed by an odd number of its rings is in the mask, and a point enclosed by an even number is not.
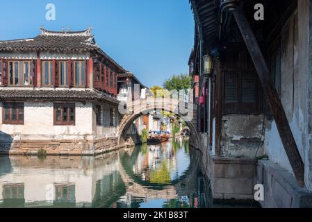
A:
[[[10,162],[13,171],[0,176],[0,207],[91,207],[99,198],[117,195],[115,191],[123,186],[116,155],[97,160],[71,157],[70,161],[47,157],[45,167],[37,157],[14,156]]]

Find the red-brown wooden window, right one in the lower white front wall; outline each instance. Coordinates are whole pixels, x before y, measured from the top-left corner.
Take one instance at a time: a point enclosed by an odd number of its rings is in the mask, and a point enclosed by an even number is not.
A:
[[[75,125],[75,103],[54,103],[54,125]]]

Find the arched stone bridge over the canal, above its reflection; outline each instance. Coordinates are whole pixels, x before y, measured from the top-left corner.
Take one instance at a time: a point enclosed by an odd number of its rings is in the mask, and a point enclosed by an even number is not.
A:
[[[125,104],[120,104],[120,109],[124,108],[123,105]],[[135,121],[138,117],[153,110],[163,110],[165,112],[172,112],[172,114],[180,117],[186,123],[191,132],[190,142],[192,146],[198,147],[199,136],[196,130],[197,112],[194,110],[195,108],[197,108],[197,106],[193,105],[193,103],[185,103],[184,101],[170,98],[149,97],[147,99],[133,101],[131,105],[127,104],[128,112],[124,114],[124,117],[120,121],[120,137],[118,139],[118,143],[124,144],[126,130],[129,129],[131,123],[133,123],[133,121]]]

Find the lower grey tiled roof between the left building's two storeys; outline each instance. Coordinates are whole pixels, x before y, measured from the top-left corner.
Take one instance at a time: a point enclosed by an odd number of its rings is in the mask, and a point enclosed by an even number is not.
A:
[[[0,101],[6,100],[108,101],[119,103],[112,96],[95,89],[0,89]]]

